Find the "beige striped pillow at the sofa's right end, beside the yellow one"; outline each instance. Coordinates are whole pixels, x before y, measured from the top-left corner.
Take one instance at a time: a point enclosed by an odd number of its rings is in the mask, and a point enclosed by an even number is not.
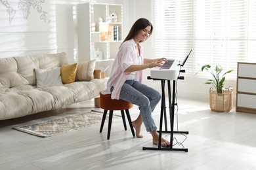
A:
[[[76,80],[91,80],[93,79],[93,71],[95,70],[96,59],[78,63]]]

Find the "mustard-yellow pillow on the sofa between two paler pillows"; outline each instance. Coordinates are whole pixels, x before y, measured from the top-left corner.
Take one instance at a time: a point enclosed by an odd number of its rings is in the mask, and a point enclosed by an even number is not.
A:
[[[62,65],[60,68],[60,75],[63,84],[69,84],[75,81],[77,70],[77,63]]]

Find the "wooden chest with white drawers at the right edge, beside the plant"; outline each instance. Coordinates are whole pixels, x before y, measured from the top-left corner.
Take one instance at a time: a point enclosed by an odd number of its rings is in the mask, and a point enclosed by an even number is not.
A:
[[[238,62],[236,111],[256,114],[256,63]]]

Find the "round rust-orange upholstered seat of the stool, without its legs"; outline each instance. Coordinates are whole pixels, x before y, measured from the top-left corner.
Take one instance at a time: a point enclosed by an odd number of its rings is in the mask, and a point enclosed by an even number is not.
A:
[[[127,110],[133,107],[132,103],[122,99],[111,99],[111,94],[100,93],[100,108],[104,110]]]

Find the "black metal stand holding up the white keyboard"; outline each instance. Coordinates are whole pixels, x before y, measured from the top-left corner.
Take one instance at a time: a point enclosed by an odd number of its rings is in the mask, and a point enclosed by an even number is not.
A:
[[[148,79],[161,80],[161,114],[160,114],[160,129],[158,131],[159,142],[158,142],[158,147],[142,147],[142,150],[175,150],[175,151],[188,152],[188,148],[173,148],[173,133],[188,134],[188,131],[173,131],[175,105],[177,105],[177,104],[175,104],[176,80],[173,80],[173,95],[171,96],[171,82],[170,82],[171,80],[151,78],[150,76],[148,76]],[[167,88],[168,88],[169,115],[170,115],[171,131],[167,130],[167,116],[166,116],[166,106],[165,106],[165,81],[167,81]],[[163,118],[164,118],[164,123],[165,123],[165,130],[162,129]],[[171,146],[169,148],[161,146],[162,133],[170,133],[170,135],[171,135],[171,137],[170,137]]]

